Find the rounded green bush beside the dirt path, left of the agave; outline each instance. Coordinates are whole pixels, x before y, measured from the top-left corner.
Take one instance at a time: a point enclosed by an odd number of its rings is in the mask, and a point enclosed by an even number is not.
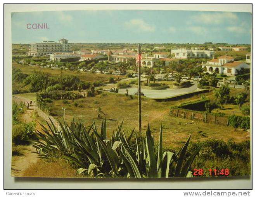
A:
[[[12,127],[12,142],[18,144],[29,144],[32,139],[37,139],[35,136],[35,122],[24,122],[16,124]]]

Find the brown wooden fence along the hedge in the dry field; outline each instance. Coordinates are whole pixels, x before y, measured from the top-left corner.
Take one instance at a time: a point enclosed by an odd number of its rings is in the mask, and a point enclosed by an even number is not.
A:
[[[192,110],[171,108],[169,115],[185,118],[189,120],[201,121],[205,123],[228,126],[228,117],[221,117],[221,116],[210,114],[210,113],[199,113],[199,112],[193,112]]]

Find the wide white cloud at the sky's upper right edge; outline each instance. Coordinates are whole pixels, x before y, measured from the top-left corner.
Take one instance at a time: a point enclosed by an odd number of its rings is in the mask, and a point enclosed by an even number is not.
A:
[[[194,22],[218,25],[225,22],[225,20],[236,20],[237,15],[232,12],[201,13],[194,15],[192,19]]]

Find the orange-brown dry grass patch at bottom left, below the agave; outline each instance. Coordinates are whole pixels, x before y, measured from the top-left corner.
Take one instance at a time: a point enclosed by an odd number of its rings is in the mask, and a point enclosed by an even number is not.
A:
[[[72,167],[66,160],[58,158],[55,160],[40,159],[24,170],[24,177],[81,177],[76,174],[76,168]]]

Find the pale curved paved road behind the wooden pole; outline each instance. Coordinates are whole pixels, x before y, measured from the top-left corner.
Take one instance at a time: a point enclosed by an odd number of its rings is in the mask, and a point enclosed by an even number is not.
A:
[[[171,89],[167,88],[165,90],[148,90],[148,89],[141,89],[141,92],[145,94],[146,97],[149,98],[166,98],[171,97],[175,95],[180,95],[183,93],[189,93],[194,92],[197,89],[197,82],[196,81],[190,81],[193,85],[188,88],[178,88],[178,89]],[[138,92],[138,88],[119,88],[119,93],[125,94],[126,89],[128,89],[128,94],[134,94],[135,92]]]

